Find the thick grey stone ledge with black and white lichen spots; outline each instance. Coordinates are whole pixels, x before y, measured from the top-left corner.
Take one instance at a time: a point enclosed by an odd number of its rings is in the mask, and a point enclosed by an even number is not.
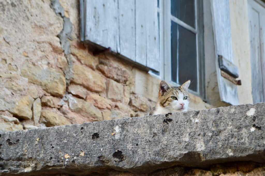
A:
[[[265,163],[265,103],[5,132],[2,175]]]

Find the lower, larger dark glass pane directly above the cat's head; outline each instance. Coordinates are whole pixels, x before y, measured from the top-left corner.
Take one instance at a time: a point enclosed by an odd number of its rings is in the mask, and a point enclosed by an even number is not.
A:
[[[172,81],[183,84],[191,80],[190,89],[197,92],[196,34],[171,21]]]

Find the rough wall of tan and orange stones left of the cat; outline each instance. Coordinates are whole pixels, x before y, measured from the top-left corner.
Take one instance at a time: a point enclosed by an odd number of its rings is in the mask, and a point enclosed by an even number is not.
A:
[[[142,116],[154,106],[135,94],[133,66],[80,42],[78,0],[8,0],[0,9],[0,130]]]

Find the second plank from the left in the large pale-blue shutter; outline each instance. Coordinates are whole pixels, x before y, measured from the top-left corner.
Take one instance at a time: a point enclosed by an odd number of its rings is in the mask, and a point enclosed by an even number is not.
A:
[[[135,0],[119,0],[120,53],[135,61]]]

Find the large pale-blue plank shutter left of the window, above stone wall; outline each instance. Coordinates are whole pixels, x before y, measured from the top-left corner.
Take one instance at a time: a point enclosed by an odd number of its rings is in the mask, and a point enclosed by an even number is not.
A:
[[[159,71],[157,0],[80,0],[81,40]]]

